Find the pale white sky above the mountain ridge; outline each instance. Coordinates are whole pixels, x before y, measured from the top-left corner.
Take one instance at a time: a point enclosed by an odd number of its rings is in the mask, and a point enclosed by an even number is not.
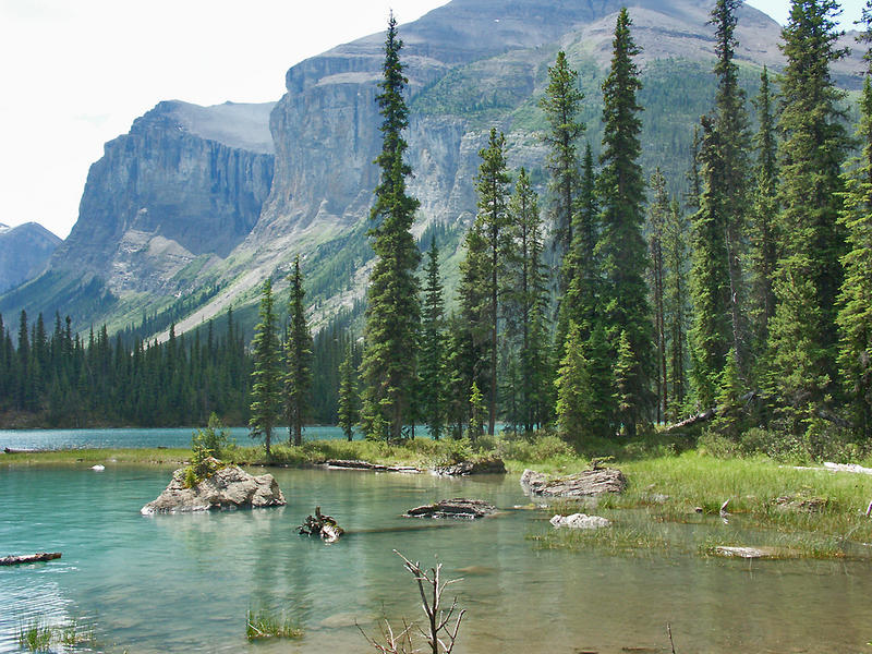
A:
[[[278,100],[294,63],[446,2],[0,0],[0,223],[65,238],[104,143],[158,101]],[[749,4],[787,20],[788,0]]]

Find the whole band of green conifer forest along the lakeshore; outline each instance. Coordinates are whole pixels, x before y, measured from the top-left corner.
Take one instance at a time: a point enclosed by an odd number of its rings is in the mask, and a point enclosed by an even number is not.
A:
[[[61,315],[53,326],[2,316],[5,422],[196,425],[215,412],[249,424],[267,451],[275,427],[290,427],[299,445],[308,424],[390,441],[474,440],[502,425],[530,438],[554,432],[579,450],[698,424],[812,449],[867,441],[872,2],[857,45],[868,70],[856,124],[831,76],[845,56],[835,0],[792,2],[784,69],[763,69],[755,97],[735,61],[739,5],[717,0],[711,14],[716,92],[685,180],[640,165],[631,13],[614,26],[595,147],[579,72],[559,52],[538,100],[547,180],[512,169],[499,125],[489,130],[456,288],[444,281],[438,234],[412,233],[420,205],[407,184],[408,80],[391,16],[365,302],[313,337],[298,258],[282,280],[287,306],[274,305],[270,280],[263,286],[251,341],[232,311],[160,342],[106,327],[73,334]]]

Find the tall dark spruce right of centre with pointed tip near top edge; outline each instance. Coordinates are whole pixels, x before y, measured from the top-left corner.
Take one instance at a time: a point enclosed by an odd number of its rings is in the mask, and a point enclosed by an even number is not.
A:
[[[619,339],[627,343],[626,388],[620,392],[626,404],[616,423],[632,437],[653,404],[650,390],[654,374],[653,329],[647,303],[645,268],[647,249],[642,238],[644,193],[639,165],[642,122],[637,93],[642,87],[633,58],[640,50],[630,34],[630,15],[621,9],[615,26],[611,69],[603,83],[603,165],[597,178],[602,237],[597,253],[603,265],[603,312],[613,352]],[[616,424],[617,426],[617,424]]]

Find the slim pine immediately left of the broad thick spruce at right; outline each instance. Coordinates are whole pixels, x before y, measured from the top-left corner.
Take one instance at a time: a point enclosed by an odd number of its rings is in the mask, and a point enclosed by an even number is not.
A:
[[[775,141],[775,118],[773,116],[773,95],[766,66],[760,74],[760,93],[754,100],[760,129],[754,136],[756,147],[756,170],[754,173],[753,203],[750,211],[750,320],[753,359],[764,361],[768,323],[775,315],[775,294],[772,280],[778,255],[774,218],[778,214],[778,170],[777,144]],[[752,366],[753,367],[753,366]]]

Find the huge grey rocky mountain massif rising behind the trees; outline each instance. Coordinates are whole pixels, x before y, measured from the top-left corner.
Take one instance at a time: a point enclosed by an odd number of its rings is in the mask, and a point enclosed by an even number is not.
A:
[[[598,148],[600,85],[625,4],[453,0],[400,27],[410,190],[421,199],[415,230],[425,241],[439,235],[449,286],[475,211],[477,152],[492,125],[506,132],[510,166],[526,167],[545,192],[537,100],[559,49],[579,70],[586,136]],[[642,164],[647,171],[659,166],[674,192],[685,186],[692,125],[712,104],[711,7],[629,4],[643,50]],[[763,64],[783,63],[779,34],[765,14],[740,9],[736,56],[751,94]],[[147,314],[143,336],[171,322],[177,331],[195,328],[231,304],[253,320],[259,283],[274,276],[281,290],[298,253],[317,319],[353,306],[372,258],[365,231],[378,173],[383,40],[364,37],[292,66],[275,106],[157,105],[106,145],[70,238],[40,278],[0,298],[0,313],[57,308],[80,327],[108,322],[110,329]],[[862,68],[853,55],[834,74],[857,88]]]

